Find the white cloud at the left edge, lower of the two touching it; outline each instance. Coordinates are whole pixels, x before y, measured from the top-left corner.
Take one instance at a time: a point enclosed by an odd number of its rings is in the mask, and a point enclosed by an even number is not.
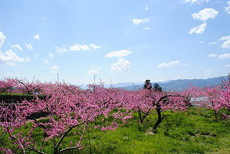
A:
[[[30,58],[21,58],[17,56],[17,54],[12,50],[7,50],[5,53],[2,53],[2,51],[0,50],[0,61],[5,64],[15,65],[15,62],[29,62]]]

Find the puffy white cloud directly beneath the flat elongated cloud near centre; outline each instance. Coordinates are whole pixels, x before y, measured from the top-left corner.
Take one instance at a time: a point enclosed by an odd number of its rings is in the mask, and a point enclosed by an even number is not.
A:
[[[111,65],[111,70],[114,72],[128,71],[130,65],[131,63],[128,60],[120,58],[116,63]]]

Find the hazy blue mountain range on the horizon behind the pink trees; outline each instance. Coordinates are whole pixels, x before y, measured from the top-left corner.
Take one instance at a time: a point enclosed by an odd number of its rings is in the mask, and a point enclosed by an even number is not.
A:
[[[172,80],[169,82],[158,84],[163,88],[163,90],[184,90],[189,88],[191,85],[196,87],[208,87],[208,86],[215,86],[222,83],[222,79],[227,79],[227,76],[220,76],[220,77],[214,77],[209,79],[179,79],[179,80]],[[125,85],[125,84],[124,84]],[[152,83],[154,85],[154,83]],[[130,85],[130,86],[120,86],[119,88],[125,89],[125,90],[138,90],[142,89],[144,84],[139,85]],[[115,87],[117,87],[115,85]]]

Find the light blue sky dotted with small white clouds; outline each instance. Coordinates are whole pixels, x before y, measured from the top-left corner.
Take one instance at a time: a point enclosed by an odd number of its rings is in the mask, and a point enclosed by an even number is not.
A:
[[[228,0],[0,0],[0,78],[87,84],[230,71]]]

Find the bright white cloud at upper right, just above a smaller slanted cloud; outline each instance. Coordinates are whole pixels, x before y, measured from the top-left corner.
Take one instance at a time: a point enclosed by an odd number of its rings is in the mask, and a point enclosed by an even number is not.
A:
[[[207,21],[208,19],[214,19],[218,15],[218,11],[213,8],[205,8],[198,13],[193,13],[192,17],[195,20]]]

